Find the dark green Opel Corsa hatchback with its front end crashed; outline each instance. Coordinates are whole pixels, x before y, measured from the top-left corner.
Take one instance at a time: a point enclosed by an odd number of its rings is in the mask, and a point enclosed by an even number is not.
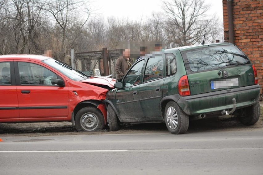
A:
[[[211,43],[137,60],[104,102],[111,131],[122,123],[165,122],[172,134],[183,134],[191,117],[235,115],[255,124],[259,96],[248,57],[231,43]]]

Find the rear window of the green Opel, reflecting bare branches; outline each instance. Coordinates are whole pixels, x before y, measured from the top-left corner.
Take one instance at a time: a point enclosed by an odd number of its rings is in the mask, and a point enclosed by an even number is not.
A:
[[[188,74],[221,69],[226,65],[251,64],[247,56],[235,46],[215,46],[182,51]]]

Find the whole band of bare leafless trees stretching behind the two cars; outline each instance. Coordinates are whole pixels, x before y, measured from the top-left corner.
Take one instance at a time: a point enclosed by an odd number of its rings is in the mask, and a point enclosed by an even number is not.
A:
[[[164,13],[142,19],[90,18],[86,0],[1,0],[0,54],[43,54],[117,49],[121,41],[162,41],[165,48],[215,42],[223,25],[205,15],[204,0],[170,0]],[[223,38],[223,37],[221,37]],[[220,38],[220,39],[221,39]],[[223,39],[222,39],[223,40]]]

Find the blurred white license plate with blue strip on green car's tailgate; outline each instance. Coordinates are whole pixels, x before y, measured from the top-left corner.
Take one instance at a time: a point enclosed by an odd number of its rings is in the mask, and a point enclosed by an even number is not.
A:
[[[238,78],[211,81],[211,89],[233,88],[236,86],[238,86]]]

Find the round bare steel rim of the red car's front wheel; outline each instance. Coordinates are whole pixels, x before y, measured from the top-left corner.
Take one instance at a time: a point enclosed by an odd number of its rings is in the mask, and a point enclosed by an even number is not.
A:
[[[89,131],[96,129],[98,126],[97,117],[91,113],[84,114],[81,117],[81,126]]]

